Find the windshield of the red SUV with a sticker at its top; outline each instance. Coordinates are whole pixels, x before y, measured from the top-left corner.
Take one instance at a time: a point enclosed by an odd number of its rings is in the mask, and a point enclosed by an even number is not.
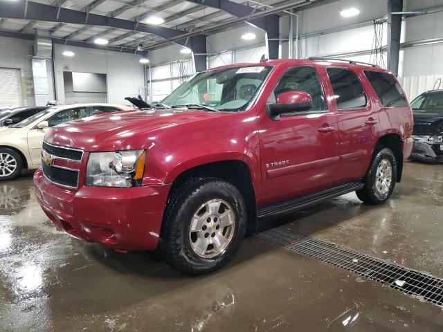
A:
[[[253,101],[271,66],[216,69],[195,75],[161,103],[215,111],[244,111]]]

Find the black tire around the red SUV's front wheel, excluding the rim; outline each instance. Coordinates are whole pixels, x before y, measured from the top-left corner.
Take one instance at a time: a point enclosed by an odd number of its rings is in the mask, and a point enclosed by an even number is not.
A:
[[[191,222],[204,203],[215,199],[226,201],[232,207],[233,235],[219,255],[200,257],[191,246]],[[170,266],[187,275],[211,273],[225,266],[237,252],[246,231],[246,220],[246,204],[236,187],[218,178],[192,178],[172,192],[163,218],[161,255]]]

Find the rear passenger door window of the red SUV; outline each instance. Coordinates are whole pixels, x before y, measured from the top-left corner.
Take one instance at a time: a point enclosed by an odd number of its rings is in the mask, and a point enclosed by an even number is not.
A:
[[[366,96],[359,78],[346,68],[327,68],[338,110],[364,109]]]

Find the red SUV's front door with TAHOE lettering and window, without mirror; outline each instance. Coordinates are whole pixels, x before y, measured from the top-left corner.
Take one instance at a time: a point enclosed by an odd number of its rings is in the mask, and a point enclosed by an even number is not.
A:
[[[325,189],[336,183],[339,163],[336,112],[330,112],[324,86],[313,66],[289,68],[269,96],[268,104],[287,91],[311,95],[309,111],[271,119],[260,110],[262,205]]]

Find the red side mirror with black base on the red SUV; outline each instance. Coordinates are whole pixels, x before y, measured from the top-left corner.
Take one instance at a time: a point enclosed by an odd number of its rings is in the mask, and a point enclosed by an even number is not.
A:
[[[312,98],[305,91],[287,91],[280,93],[277,102],[269,104],[271,118],[278,118],[281,114],[309,111],[312,107]]]

